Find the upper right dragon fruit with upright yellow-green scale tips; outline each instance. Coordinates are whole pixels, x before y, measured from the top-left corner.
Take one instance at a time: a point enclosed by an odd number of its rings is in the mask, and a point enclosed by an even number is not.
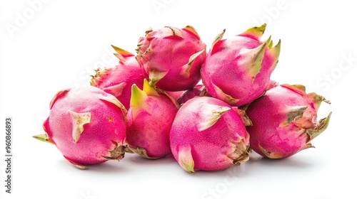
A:
[[[263,95],[281,46],[279,41],[273,47],[270,37],[259,41],[265,28],[263,24],[221,39],[224,30],[217,36],[201,69],[203,85],[212,97],[240,107]]]

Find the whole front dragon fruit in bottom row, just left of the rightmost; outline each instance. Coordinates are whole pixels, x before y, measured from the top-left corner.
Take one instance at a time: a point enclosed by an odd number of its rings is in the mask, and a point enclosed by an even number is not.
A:
[[[248,161],[249,135],[240,115],[240,110],[213,97],[184,103],[170,132],[171,151],[179,165],[193,173],[221,171]]]

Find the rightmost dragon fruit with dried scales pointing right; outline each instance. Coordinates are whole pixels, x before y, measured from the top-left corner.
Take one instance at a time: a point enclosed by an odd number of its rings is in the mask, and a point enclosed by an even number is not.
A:
[[[321,102],[330,103],[314,92],[306,94],[303,85],[279,85],[249,104],[246,114],[253,125],[247,127],[251,149],[268,158],[286,158],[313,147],[311,140],[330,121],[317,121]]]

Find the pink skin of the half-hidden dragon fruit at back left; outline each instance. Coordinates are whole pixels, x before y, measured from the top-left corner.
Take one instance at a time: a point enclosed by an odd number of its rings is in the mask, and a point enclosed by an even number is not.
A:
[[[99,87],[105,92],[114,95],[126,109],[129,109],[131,85],[136,84],[140,89],[143,89],[145,78],[144,72],[135,56],[132,55],[126,58],[124,62],[119,62],[114,68],[107,68],[106,71],[106,74],[98,77],[95,82],[92,81],[91,85]],[[126,85],[120,92],[113,92],[113,90],[107,89],[108,87],[119,85],[122,82],[126,83]]]

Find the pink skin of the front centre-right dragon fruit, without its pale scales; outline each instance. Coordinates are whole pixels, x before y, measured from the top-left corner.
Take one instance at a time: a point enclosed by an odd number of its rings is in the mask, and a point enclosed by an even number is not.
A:
[[[249,135],[236,112],[232,109],[224,113],[212,127],[199,131],[207,105],[230,107],[226,102],[213,97],[194,97],[182,105],[171,127],[171,151],[178,161],[178,150],[191,147],[194,170],[221,171],[233,166],[226,154],[231,153],[230,141],[244,139],[248,145]]]

